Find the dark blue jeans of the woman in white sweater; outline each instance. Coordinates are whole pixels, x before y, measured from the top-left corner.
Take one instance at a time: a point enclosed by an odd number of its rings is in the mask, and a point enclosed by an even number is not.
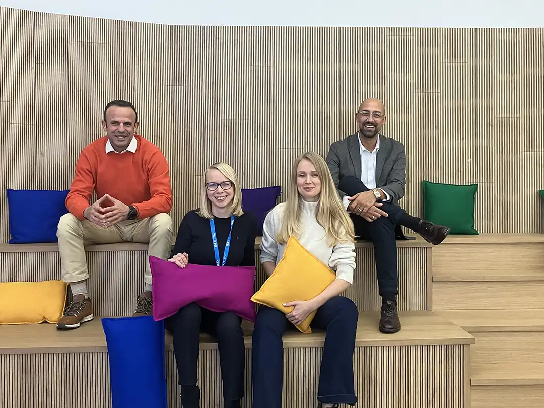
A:
[[[317,399],[324,404],[355,405],[353,351],[358,312],[354,302],[335,296],[320,307],[311,327],[326,330]],[[253,408],[281,408],[282,335],[293,327],[285,314],[260,305],[253,332]]]

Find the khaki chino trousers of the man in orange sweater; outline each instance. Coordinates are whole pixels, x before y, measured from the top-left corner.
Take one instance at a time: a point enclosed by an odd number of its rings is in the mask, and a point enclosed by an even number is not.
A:
[[[166,213],[159,213],[149,218],[125,220],[102,228],[68,213],[60,217],[57,237],[63,281],[81,282],[89,278],[85,245],[149,243],[147,255],[168,259],[172,246],[172,219]],[[146,262],[144,279],[146,283],[152,283],[149,261]]]

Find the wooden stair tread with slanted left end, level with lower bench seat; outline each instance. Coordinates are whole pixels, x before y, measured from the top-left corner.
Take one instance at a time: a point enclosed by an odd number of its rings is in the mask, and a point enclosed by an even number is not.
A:
[[[441,310],[434,311],[469,333],[544,332],[544,309],[531,310]]]

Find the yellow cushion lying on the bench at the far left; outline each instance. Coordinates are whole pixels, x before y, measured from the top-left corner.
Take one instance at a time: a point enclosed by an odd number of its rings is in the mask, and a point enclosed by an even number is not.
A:
[[[0,324],[57,323],[63,316],[67,283],[0,283]]]

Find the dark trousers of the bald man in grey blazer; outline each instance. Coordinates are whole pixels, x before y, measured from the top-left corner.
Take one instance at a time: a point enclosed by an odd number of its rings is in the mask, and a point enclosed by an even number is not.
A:
[[[350,196],[369,190],[361,180],[353,176],[342,178],[338,184],[338,189]],[[388,217],[380,217],[368,222],[360,215],[351,214],[351,220],[353,220],[356,236],[369,240],[374,245],[380,296],[396,296],[399,287],[399,274],[397,270],[395,227],[406,211],[390,202],[381,200],[378,202],[383,204],[379,208],[385,211]]]

